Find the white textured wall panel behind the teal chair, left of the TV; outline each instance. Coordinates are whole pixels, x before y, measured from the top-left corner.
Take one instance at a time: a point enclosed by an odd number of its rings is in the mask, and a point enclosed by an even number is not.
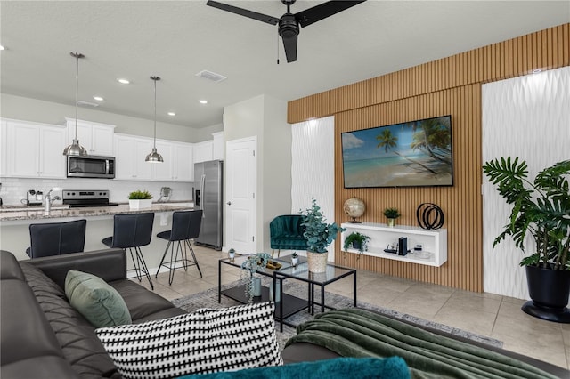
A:
[[[291,214],[316,198],[328,222],[335,217],[335,120],[324,117],[291,125]],[[334,261],[334,244],[329,261]]]

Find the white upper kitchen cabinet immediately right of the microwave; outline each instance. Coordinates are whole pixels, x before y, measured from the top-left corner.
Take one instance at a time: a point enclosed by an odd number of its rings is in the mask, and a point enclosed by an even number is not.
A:
[[[152,165],[144,158],[152,150],[152,139],[115,133],[115,179],[151,181]]]

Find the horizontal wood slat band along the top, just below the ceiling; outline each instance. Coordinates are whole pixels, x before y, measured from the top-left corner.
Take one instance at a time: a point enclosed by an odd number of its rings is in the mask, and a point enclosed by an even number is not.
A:
[[[570,23],[289,101],[288,122],[570,65]]]

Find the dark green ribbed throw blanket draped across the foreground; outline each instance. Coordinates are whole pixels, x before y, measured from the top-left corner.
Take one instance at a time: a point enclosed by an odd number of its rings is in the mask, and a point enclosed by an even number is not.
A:
[[[343,357],[402,357],[412,378],[556,378],[500,353],[361,309],[330,310],[287,342],[314,343]]]

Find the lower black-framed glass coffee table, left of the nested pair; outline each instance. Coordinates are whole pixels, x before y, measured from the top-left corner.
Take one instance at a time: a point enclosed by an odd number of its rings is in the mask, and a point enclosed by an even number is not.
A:
[[[229,288],[225,288],[222,289],[222,265],[229,265],[229,266],[233,266],[233,267],[237,267],[238,269],[241,268],[241,263],[246,261],[248,259],[248,256],[251,256],[254,254],[247,254],[247,255],[236,255],[236,257],[231,260],[230,258],[224,258],[224,259],[220,259],[218,261],[218,270],[217,270],[217,277],[218,277],[218,294],[217,294],[217,302],[222,302],[222,295],[229,297],[233,300],[235,300],[236,302],[241,302],[244,304],[247,304],[249,299],[248,296],[246,295],[246,286],[245,284],[242,284],[240,286],[232,286]],[[299,257],[299,262],[301,262]],[[291,267],[291,262],[288,261],[284,261],[281,259],[271,259],[272,261],[275,262],[280,262],[281,263],[281,269],[286,269]],[[303,260],[303,262],[305,262],[305,258]],[[275,288],[275,283],[276,283],[276,279],[274,278],[274,274],[275,272],[277,272],[278,270],[271,270],[271,269],[267,269],[265,268],[264,271],[258,271],[259,275],[268,277],[268,278],[273,278],[273,288]],[[283,294],[282,291],[282,278],[278,279],[281,285],[281,297],[279,297],[281,299],[280,302],[275,302],[275,319],[277,319],[278,321],[280,321],[281,323],[281,331],[283,329],[283,323],[284,320],[287,319],[289,316],[292,316],[298,312],[300,312],[301,310],[306,310],[309,308],[309,302],[307,302],[306,299],[300,299],[296,296],[290,295],[290,294]],[[273,290],[274,292],[274,290]],[[253,298],[253,302],[269,302],[272,301],[273,299],[275,299],[275,294],[269,294],[269,287],[267,286],[262,286],[261,287],[261,296],[255,296]],[[277,306],[277,304],[279,304],[279,306]],[[281,316],[282,315],[282,316]],[[286,325],[289,325],[287,323],[285,323]],[[291,327],[295,327],[293,325],[290,325]]]

